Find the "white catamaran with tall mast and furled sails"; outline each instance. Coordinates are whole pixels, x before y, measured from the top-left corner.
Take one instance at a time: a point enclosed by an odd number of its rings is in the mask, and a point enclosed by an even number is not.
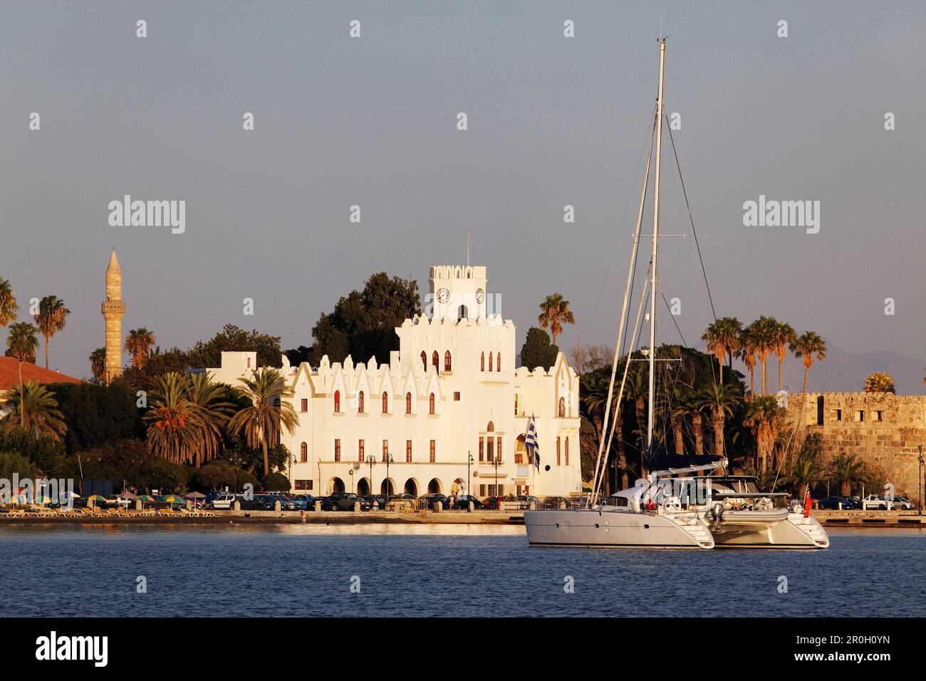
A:
[[[659,251],[659,192],[663,111],[663,82],[666,38],[660,37],[659,79],[653,132],[646,159],[643,191],[633,234],[630,267],[620,314],[618,342],[611,367],[606,405],[612,405],[617,378],[624,320],[627,319],[636,267],[637,245],[643,223],[649,169],[655,146],[652,256],[648,281],[640,296],[630,338],[636,338],[641,316],[649,296],[649,346],[642,351],[649,363],[649,392],[645,448],[648,460],[643,477],[634,486],[601,499],[599,493],[607,470],[607,453],[611,451],[615,430],[608,430],[611,409],[605,410],[604,427],[595,462],[592,494],[584,506],[569,509],[525,511],[524,524],[531,546],[626,547],[653,549],[738,548],[807,548],[825,549],[830,540],[809,509],[800,512],[792,505],[775,508],[775,501],[788,495],[759,492],[757,479],[746,476],[711,475],[725,468],[722,455],[669,455],[660,451],[654,438],[656,404],[656,319]],[[687,199],[686,199],[687,200]],[[648,289],[648,290],[647,290]],[[623,396],[630,361],[625,362],[617,402]],[[606,448],[607,440],[607,448]],[[693,476],[693,473],[701,473]]]

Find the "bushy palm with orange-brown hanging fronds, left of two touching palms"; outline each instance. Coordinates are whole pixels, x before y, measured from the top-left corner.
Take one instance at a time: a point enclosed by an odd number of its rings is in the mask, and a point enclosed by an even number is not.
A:
[[[203,447],[204,423],[200,411],[186,395],[186,381],[181,373],[166,373],[158,379],[152,391],[151,409],[142,417],[147,423],[148,447],[157,456],[174,463],[197,460],[197,452]]]

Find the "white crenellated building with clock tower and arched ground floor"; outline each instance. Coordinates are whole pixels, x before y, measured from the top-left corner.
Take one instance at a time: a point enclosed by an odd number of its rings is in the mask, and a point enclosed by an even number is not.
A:
[[[480,498],[496,482],[499,494],[581,493],[579,378],[565,356],[549,372],[515,369],[515,325],[486,313],[484,267],[432,267],[430,283],[426,313],[395,329],[388,365],[326,356],[313,369],[283,357],[299,415],[282,436],[292,491],[383,494],[388,483],[389,494],[466,493],[469,476]],[[207,371],[241,385],[257,353],[223,352],[221,364]],[[532,414],[539,469],[524,448]]]

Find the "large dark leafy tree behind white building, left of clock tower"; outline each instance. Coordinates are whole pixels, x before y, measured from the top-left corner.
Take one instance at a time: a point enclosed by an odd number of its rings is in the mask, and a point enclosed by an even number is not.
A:
[[[390,353],[399,348],[395,327],[420,313],[417,281],[373,274],[363,290],[351,291],[332,312],[319,317],[312,328],[312,363],[318,365],[325,355],[332,362],[351,355],[357,361],[375,357],[388,364]]]

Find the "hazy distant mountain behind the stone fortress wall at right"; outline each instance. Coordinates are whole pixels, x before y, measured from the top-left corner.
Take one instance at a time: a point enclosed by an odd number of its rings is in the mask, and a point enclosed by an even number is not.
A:
[[[873,372],[883,372],[894,378],[897,395],[926,395],[923,384],[926,359],[913,359],[898,352],[863,352],[854,355],[841,347],[829,344],[826,359],[815,361],[810,367],[807,391],[812,393],[857,393],[865,389],[865,379]],[[769,358],[769,386],[778,387],[778,358]],[[740,371],[744,371],[741,369]],[[758,385],[760,369],[757,368]],[[748,374],[746,381],[748,382]],[[804,364],[794,355],[784,359],[784,385],[792,393],[804,387]]]

